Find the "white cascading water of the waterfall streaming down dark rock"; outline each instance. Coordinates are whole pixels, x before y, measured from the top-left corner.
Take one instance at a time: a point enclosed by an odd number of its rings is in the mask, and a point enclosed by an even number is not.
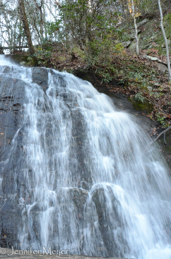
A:
[[[4,171],[22,132],[13,175],[22,215],[20,248],[171,258],[167,167],[156,147],[147,148],[150,140],[134,118],[72,74],[48,69],[44,92],[32,83],[32,68],[12,66],[3,56],[0,64],[11,65],[1,66],[0,76],[25,85],[22,123],[1,162]]]

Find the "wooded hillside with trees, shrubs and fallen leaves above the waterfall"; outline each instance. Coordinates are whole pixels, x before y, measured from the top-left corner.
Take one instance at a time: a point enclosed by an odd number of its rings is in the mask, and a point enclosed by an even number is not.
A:
[[[19,54],[22,66],[91,70],[168,127],[170,11],[170,0],[0,0],[0,53]]]

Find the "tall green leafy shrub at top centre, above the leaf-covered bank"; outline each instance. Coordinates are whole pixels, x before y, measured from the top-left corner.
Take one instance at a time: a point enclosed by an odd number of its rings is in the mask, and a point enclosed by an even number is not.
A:
[[[113,80],[113,71],[116,69],[112,64],[113,57],[123,52],[122,44],[115,42],[116,35],[127,38],[123,31],[116,30],[118,13],[111,11],[114,2],[62,0],[59,7],[62,22],[57,26],[60,27],[60,37],[68,42],[71,49],[74,45],[80,46],[85,52],[88,67],[102,77],[102,82]]]

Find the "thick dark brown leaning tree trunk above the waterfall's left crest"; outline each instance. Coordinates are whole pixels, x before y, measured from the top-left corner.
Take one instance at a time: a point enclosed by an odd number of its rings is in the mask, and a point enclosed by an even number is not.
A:
[[[18,4],[19,4],[19,9],[20,9],[20,17],[21,17],[23,27],[24,27],[24,31],[25,31],[25,34],[26,34],[26,38],[27,38],[27,44],[28,44],[29,52],[30,52],[30,55],[32,56],[35,53],[35,50],[34,50],[34,47],[33,47],[32,37],[31,37],[31,34],[30,34],[30,28],[29,28],[29,24],[28,24],[26,12],[25,12],[24,0],[18,0]]]

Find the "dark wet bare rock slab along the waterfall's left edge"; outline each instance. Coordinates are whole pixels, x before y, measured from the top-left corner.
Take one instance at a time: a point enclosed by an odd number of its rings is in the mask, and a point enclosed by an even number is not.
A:
[[[11,141],[21,126],[22,104],[25,103],[25,89],[22,80],[6,77],[9,68],[5,67],[4,75],[0,78],[0,178],[1,178],[1,239],[0,245],[11,247],[17,242],[17,225],[21,220],[18,210],[18,193],[15,186],[15,170],[20,155],[22,133],[18,134],[16,156],[5,167],[3,161],[9,160]]]

